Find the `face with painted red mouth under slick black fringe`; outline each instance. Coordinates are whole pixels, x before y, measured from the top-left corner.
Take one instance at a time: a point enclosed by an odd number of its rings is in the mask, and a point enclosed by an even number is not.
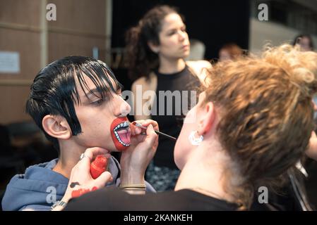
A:
[[[108,93],[109,100],[103,100],[95,84],[85,77],[91,91],[81,89],[76,81],[81,103],[75,105],[76,115],[82,132],[73,136],[80,147],[101,147],[110,151],[120,151],[130,144],[130,128],[126,115],[130,113],[130,105],[121,98],[121,89],[117,93]],[[116,85],[112,82],[114,88]],[[87,96],[85,96],[85,93]]]

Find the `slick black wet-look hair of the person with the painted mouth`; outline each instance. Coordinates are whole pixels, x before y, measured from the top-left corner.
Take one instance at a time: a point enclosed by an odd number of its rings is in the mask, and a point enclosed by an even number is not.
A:
[[[30,87],[26,113],[30,114],[42,131],[42,120],[45,115],[61,115],[71,127],[72,135],[79,134],[81,127],[74,108],[74,104],[80,104],[76,78],[88,97],[86,91],[92,91],[85,82],[85,77],[95,84],[97,94],[104,100],[109,100],[112,93],[121,88],[112,70],[102,61],[85,56],[68,56],[50,63],[37,74]],[[115,86],[110,78],[113,79]],[[95,92],[92,94],[97,95]],[[45,131],[44,134],[59,151],[57,139]]]

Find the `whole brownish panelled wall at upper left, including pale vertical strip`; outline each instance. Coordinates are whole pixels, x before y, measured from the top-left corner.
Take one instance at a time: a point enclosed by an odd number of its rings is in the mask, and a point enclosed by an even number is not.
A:
[[[20,53],[20,73],[0,73],[0,124],[30,120],[24,113],[25,100],[41,62],[92,56],[94,46],[104,59],[106,0],[49,0],[56,4],[56,21],[46,20],[43,1],[0,0],[0,51]]]

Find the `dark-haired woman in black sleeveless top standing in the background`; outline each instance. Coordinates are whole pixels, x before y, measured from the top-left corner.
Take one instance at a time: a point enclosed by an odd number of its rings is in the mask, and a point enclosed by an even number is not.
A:
[[[129,74],[136,79],[131,87],[134,96],[138,89],[142,89],[142,94],[152,91],[142,105],[133,104],[135,120],[155,120],[162,132],[179,136],[187,113],[181,110],[184,105],[179,103],[187,103],[186,110],[195,105],[198,94],[191,98],[190,91],[201,85],[203,68],[210,68],[210,63],[205,60],[185,62],[184,58],[189,56],[189,35],[184,19],[170,6],[157,6],[148,11],[136,27],[128,30],[126,42]],[[166,96],[162,95],[165,91]],[[184,91],[188,91],[185,97]],[[173,96],[173,101],[167,103],[172,94],[179,98]],[[138,114],[137,108],[143,109],[146,102],[150,102],[148,115]],[[174,189],[179,176],[174,163],[174,145],[175,141],[159,136],[157,153],[146,173],[146,179],[156,191]]]

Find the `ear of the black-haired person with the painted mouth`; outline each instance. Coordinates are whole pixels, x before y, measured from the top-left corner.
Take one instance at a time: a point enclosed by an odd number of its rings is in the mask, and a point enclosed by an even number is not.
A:
[[[44,131],[56,139],[70,139],[71,127],[64,117],[57,115],[46,115],[42,120],[42,127]]]

